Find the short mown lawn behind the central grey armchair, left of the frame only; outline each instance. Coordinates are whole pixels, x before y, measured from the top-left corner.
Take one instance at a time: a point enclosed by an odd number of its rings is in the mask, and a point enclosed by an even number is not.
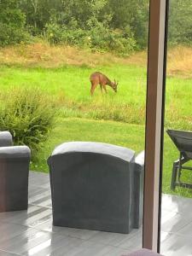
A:
[[[32,163],[32,169],[48,172],[46,160],[56,145],[70,141],[90,141],[113,143],[134,148],[137,152],[144,148],[144,126],[129,125],[114,121],[90,120],[78,118],[60,118],[49,139],[42,146],[38,160]]]

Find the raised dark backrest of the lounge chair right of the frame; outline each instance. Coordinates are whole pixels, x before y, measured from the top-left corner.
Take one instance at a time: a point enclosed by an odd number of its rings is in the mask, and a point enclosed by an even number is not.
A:
[[[192,160],[192,132],[176,130],[167,130],[166,132],[183,157]]]

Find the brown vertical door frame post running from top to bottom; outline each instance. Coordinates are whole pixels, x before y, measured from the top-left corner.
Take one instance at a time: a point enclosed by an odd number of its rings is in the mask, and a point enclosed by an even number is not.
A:
[[[143,247],[160,252],[160,196],[166,88],[168,0],[150,0]]]

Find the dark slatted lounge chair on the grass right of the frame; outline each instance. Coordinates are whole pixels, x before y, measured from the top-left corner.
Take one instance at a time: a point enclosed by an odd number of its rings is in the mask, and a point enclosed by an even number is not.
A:
[[[192,132],[175,130],[167,130],[166,132],[179,151],[179,158],[174,161],[172,166],[171,189],[174,190],[176,186],[192,189],[192,183],[184,183],[181,180],[183,170],[192,171],[192,167],[183,166],[192,160]]]

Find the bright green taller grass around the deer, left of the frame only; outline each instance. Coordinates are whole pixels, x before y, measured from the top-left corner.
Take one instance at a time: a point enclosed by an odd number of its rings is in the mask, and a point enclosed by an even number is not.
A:
[[[90,96],[89,67],[66,66],[61,68],[0,67],[0,84],[3,90],[11,86],[38,87],[55,96],[65,117],[113,119],[144,124],[146,72],[134,66],[99,67],[111,79],[119,80],[118,93],[108,87],[108,95],[96,88]]]

